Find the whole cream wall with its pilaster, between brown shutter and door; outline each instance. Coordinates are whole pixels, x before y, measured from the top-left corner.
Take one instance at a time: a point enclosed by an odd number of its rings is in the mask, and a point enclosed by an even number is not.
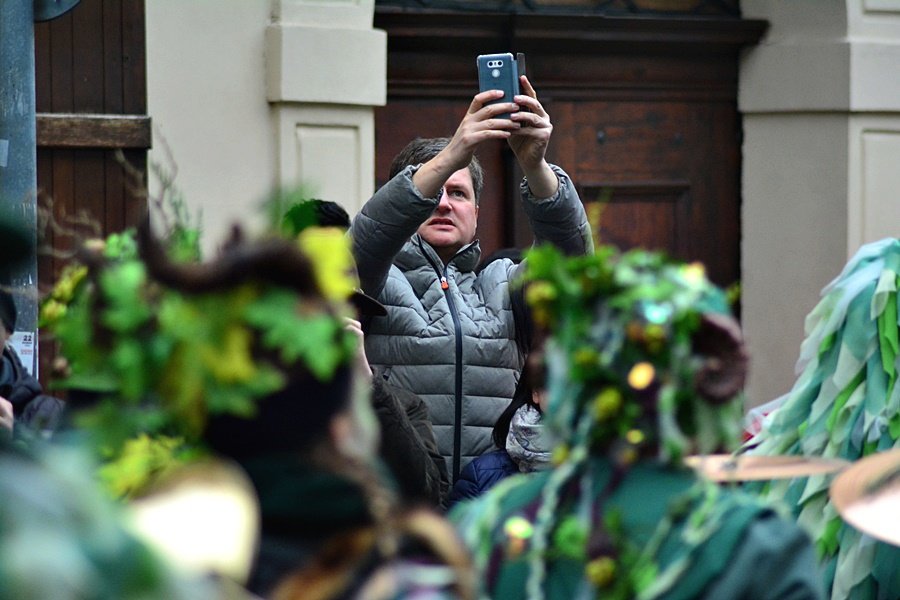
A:
[[[147,2],[151,163],[200,212],[204,245],[263,223],[277,187],[355,212],[374,191],[387,39],[374,0]],[[151,193],[160,181],[152,178]]]

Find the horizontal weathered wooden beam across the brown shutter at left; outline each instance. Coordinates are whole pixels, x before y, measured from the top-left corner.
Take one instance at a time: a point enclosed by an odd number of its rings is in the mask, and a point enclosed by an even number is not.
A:
[[[37,114],[37,145],[42,148],[151,147],[148,115]]]

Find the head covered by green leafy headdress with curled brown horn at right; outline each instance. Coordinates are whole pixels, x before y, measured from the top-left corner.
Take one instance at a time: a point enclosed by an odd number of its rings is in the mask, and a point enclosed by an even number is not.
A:
[[[747,356],[701,265],[611,248],[578,258],[540,248],[528,262],[526,294],[551,332],[547,421],[559,439],[675,464],[731,449]]]

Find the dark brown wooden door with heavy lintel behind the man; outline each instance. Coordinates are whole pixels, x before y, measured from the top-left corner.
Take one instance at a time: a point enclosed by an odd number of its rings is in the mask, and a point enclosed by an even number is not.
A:
[[[765,22],[608,18],[376,7],[388,33],[388,102],[376,111],[376,173],[417,135],[452,135],[477,91],[475,57],[525,52],[554,124],[548,158],[572,176],[601,241],[663,249],[740,278],[738,52]],[[479,150],[484,254],[525,247],[519,174],[504,144]],[[592,204],[605,201],[601,210]],[[599,215],[599,216],[598,216]]]

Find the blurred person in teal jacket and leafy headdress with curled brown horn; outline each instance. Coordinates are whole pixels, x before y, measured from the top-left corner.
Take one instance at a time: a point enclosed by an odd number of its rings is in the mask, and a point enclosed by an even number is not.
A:
[[[737,442],[747,356],[702,265],[528,255],[555,466],[451,512],[491,598],[818,599],[809,539],[690,454]]]

